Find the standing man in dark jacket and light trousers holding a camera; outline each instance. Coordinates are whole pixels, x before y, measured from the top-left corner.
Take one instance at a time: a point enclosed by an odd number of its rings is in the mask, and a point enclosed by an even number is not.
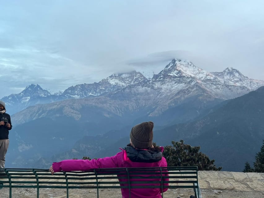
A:
[[[8,134],[12,129],[10,115],[6,114],[6,104],[0,101],[0,168],[5,168],[5,157],[9,145]]]

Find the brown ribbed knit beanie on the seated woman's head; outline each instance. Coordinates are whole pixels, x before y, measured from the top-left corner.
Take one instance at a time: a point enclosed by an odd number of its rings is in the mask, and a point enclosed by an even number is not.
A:
[[[132,127],[130,140],[138,149],[148,149],[152,147],[154,123],[144,122]]]

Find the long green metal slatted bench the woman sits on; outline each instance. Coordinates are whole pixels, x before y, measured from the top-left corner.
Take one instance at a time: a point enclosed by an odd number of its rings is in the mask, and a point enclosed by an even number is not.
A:
[[[1,171],[5,173],[1,173]],[[169,175],[165,176],[166,173]],[[165,178],[168,178],[169,181],[164,181]],[[126,181],[120,182],[118,179],[126,179]],[[146,179],[152,181],[146,181]],[[166,186],[165,183],[169,183],[169,186]],[[69,189],[73,188],[97,189],[97,198],[99,189],[102,188],[192,188],[194,196],[201,198],[197,166],[106,168],[94,169],[89,172],[58,172],[54,175],[51,175],[48,169],[6,168],[0,169],[1,187],[9,188],[9,198],[12,197],[13,188],[36,188],[37,198],[39,198],[41,188],[67,189],[67,198]]]

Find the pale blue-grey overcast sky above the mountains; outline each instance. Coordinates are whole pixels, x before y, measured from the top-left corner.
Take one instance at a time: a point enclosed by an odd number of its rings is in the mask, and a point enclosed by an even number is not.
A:
[[[0,98],[113,74],[161,71],[173,58],[264,80],[264,1],[0,0]]]

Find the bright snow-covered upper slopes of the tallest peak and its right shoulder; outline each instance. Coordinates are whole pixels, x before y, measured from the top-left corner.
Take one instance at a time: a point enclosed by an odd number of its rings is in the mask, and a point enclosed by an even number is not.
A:
[[[172,83],[169,79],[173,79]],[[159,81],[162,84],[158,83]],[[164,70],[154,75],[151,82],[155,83],[157,88],[172,86],[173,89],[190,88],[196,84],[208,94],[221,99],[238,97],[264,85],[264,81],[249,79],[232,67],[223,72],[208,72],[196,67],[192,62],[180,59],[173,59]]]

